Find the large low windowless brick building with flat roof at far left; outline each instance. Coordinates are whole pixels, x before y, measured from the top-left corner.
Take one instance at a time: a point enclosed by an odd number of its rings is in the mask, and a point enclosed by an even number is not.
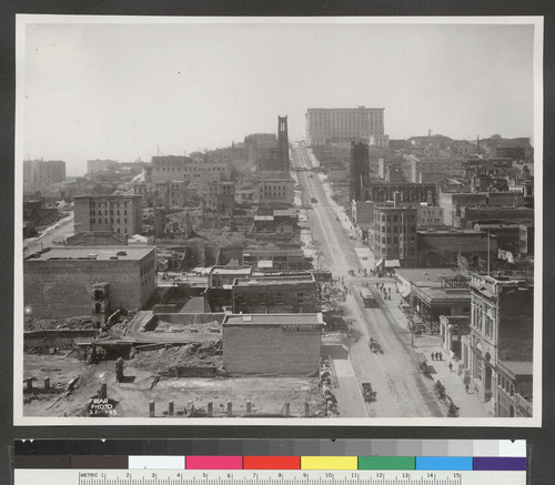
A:
[[[23,261],[24,306],[33,316],[93,312],[93,285],[108,284],[111,309],[141,309],[157,286],[152,246],[49,247]]]

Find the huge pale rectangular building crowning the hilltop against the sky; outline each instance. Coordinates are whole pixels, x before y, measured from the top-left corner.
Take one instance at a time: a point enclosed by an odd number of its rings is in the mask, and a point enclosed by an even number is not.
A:
[[[309,146],[356,140],[387,144],[383,108],[310,108],[305,117]]]

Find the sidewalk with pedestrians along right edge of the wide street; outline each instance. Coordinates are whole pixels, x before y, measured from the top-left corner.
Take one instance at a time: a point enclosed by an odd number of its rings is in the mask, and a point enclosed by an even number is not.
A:
[[[408,319],[400,309],[401,294],[397,293],[395,283],[382,279],[379,281],[384,284],[384,287],[391,287],[391,300],[383,300],[382,292],[376,289],[375,283],[372,283],[372,291],[381,300],[383,305],[391,312],[395,321],[403,329],[410,330]],[[390,294],[390,293],[387,293]],[[464,388],[463,376],[458,375],[458,363],[448,358],[447,353],[441,345],[440,335],[423,335],[414,339],[414,352],[422,358],[425,358],[428,365],[430,373],[434,381],[441,381],[445,386],[445,393],[453,400],[456,406],[460,407],[461,417],[487,417],[490,413],[486,411],[486,405],[482,403],[476,394],[470,391],[466,394]],[[441,353],[443,361],[432,361],[432,353]],[[448,364],[453,364],[453,371],[450,371]],[[445,415],[447,407],[445,406]]]

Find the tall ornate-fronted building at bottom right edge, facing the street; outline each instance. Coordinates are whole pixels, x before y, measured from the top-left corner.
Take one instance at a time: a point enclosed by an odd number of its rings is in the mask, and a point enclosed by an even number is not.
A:
[[[507,378],[511,372],[505,368],[507,363],[532,362],[533,357],[534,284],[531,276],[532,273],[471,275],[471,334],[463,340],[463,363],[468,370],[471,387],[484,402],[493,400],[497,414],[498,403],[507,397],[501,396],[498,390],[501,376]],[[508,388],[511,396],[511,386],[502,382],[502,387],[505,394]]]

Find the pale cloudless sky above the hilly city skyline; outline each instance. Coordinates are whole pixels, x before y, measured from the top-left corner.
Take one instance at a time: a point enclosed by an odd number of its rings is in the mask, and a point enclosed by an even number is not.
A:
[[[531,24],[28,22],[23,158],[149,161],[276,132],[307,108],[384,108],[394,139],[533,137]],[[155,22],[155,20],[150,20]],[[213,22],[213,21],[211,21]]]

